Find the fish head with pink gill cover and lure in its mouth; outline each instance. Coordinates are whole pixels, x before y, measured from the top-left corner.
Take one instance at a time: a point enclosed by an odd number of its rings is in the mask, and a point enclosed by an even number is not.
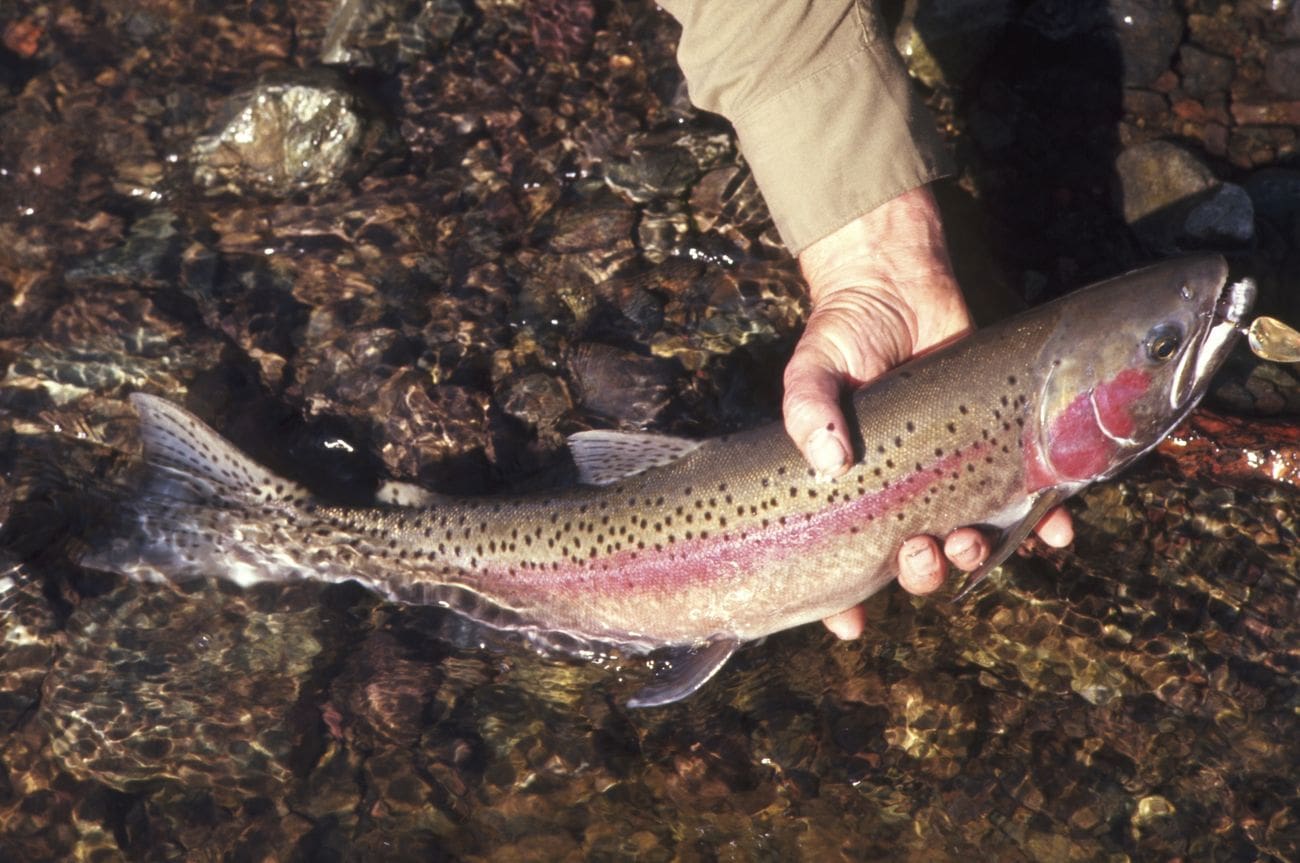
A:
[[[1058,300],[1026,424],[1028,490],[1114,474],[1204,395],[1254,299],[1221,256],[1157,264]]]

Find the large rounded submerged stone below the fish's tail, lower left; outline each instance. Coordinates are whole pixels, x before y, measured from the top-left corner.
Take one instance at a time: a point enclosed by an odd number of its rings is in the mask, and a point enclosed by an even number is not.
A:
[[[281,793],[318,608],[255,602],[124,585],[74,613],[40,706],[64,769],[118,790],[178,782],[231,806]]]

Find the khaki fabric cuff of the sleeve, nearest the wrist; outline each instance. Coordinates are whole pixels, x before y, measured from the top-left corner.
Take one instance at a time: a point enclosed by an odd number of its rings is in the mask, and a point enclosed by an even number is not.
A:
[[[930,110],[883,40],[731,120],[792,255],[953,170]]]

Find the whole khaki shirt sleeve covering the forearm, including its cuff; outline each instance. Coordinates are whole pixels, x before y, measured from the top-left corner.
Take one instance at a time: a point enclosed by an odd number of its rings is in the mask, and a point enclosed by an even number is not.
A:
[[[866,3],[663,0],[692,101],[727,117],[798,255],[950,170]]]

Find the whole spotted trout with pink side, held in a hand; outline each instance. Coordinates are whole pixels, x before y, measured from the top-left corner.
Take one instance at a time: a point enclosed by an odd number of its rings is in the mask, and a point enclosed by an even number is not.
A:
[[[129,529],[83,563],[148,580],[354,578],[540,643],[677,647],[629,702],[663,704],[740,643],[884,587],[913,534],[998,529],[983,577],[1191,411],[1253,294],[1227,286],[1221,257],[1175,260],[911,360],[853,396],[857,460],[832,481],[780,424],[702,442],[585,432],[569,439],[573,489],[344,508],[136,394],[148,480]]]

